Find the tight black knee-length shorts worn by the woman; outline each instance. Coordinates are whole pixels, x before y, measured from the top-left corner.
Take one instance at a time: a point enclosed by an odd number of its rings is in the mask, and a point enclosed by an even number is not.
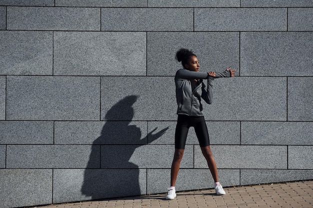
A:
[[[210,145],[207,127],[203,116],[178,115],[175,130],[175,149],[184,149],[188,130],[191,126],[194,128],[200,147]]]

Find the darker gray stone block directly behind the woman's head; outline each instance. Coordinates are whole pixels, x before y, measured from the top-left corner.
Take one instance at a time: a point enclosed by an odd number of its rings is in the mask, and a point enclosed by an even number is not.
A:
[[[174,76],[182,68],[174,59],[181,47],[192,49],[202,72],[222,72],[231,66],[239,74],[238,32],[148,32],[147,75]]]

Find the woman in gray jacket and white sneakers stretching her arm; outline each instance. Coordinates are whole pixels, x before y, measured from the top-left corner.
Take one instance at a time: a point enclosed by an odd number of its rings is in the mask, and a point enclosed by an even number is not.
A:
[[[208,104],[212,103],[212,81],[219,77],[233,77],[236,70],[227,68],[222,73],[199,72],[199,62],[196,55],[188,49],[181,48],[176,52],[176,60],[181,62],[182,69],[175,75],[177,124],[175,130],[175,153],[170,172],[170,188],[166,196],[167,200],[173,200],[175,194],[175,182],[182,159],[187,133],[190,127],[195,134],[208,168],[215,182],[216,195],[225,195],[222,186],[218,182],[217,168],[210,149],[207,127],[202,114],[201,98]],[[207,79],[207,87],[202,82]]]

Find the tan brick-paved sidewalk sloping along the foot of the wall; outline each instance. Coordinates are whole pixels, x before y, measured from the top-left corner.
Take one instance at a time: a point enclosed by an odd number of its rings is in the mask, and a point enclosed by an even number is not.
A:
[[[174,200],[165,194],[99,201],[47,205],[37,208],[313,208],[313,181],[178,192]]]

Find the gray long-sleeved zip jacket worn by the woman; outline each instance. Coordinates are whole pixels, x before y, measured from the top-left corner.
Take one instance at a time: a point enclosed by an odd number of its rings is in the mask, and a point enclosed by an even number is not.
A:
[[[201,98],[208,104],[212,103],[212,81],[220,77],[230,77],[230,72],[217,72],[215,77],[211,77],[206,72],[177,70],[175,75],[177,114],[203,116]],[[194,79],[197,80],[197,85],[193,88],[190,80]],[[207,79],[207,87],[202,82],[203,79]]]

